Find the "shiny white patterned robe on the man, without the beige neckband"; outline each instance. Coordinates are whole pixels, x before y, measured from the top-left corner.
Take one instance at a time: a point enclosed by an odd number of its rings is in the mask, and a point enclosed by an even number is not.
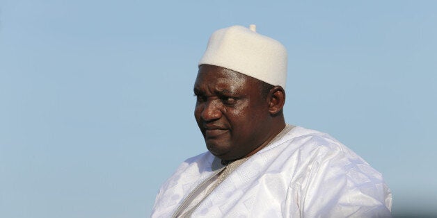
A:
[[[189,158],[159,190],[152,217],[170,217],[212,175],[211,153]],[[296,126],[255,153],[193,217],[390,217],[379,172],[333,137]]]

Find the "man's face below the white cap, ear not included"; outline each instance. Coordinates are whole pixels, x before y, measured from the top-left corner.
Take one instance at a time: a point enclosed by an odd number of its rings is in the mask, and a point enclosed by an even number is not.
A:
[[[263,123],[270,116],[269,103],[260,94],[260,81],[223,67],[201,65],[194,93],[194,116],[214,156],[243,158],[266,142],[269,130]]]

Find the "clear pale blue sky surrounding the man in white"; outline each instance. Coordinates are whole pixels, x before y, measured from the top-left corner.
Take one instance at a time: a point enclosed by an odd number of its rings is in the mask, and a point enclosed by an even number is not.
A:
[[[193,82],[235,24],[289,52],[285,118],[437,214],[437,1],[0,0],[0,217],[148,217],[206,151]]]

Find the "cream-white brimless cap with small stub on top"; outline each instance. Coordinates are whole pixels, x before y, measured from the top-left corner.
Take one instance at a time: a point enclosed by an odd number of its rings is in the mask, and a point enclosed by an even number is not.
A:
[[[215,65],[257,78],[285,89],[287,49],[271,37],[244,26],[230,26],[212,33],[200,65]]]

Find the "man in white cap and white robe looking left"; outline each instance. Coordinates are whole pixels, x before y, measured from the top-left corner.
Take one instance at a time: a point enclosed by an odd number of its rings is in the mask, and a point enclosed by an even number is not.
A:
[[[390,217],[381,174],[333,137],[285,124],[287,51],[231,26],[194,83],[206,153],[161,187],[152,217]]]

